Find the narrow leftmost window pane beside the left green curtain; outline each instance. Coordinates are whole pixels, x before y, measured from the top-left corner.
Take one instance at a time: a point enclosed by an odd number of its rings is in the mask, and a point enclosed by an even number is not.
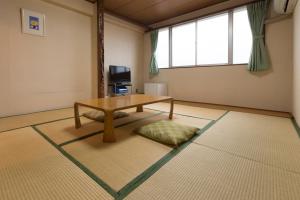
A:
[[[161,29],[158,32],[156,60],[159,68],[169,67],[169,29]]]

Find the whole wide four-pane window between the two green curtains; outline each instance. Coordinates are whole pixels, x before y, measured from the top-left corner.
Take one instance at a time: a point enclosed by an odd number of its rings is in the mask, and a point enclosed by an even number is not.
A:
[[[159,68],[248,63],[252,33],[245,7],[159,30]]]

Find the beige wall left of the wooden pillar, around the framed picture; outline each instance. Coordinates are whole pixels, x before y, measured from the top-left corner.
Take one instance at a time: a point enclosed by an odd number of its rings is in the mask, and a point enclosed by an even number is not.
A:
[[[22,34],[20,8],[46,15],[46,37]],[[0,1],[0,116],[91,97],[92,18],[85,11],[40,0]]]

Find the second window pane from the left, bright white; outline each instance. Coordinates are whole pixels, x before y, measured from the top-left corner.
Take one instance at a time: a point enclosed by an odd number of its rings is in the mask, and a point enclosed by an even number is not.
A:
[[[196,23],[172,29],[172,66],[195,65]]]

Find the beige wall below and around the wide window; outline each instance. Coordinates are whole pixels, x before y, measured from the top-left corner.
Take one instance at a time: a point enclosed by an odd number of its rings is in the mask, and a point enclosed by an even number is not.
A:
[[[250,73],[246,66],[161,69],[150,78],[150,34],[145,35],[145,82],[168,83],[169,95],[179,100],[250,108],[291,111],[292,19],[266,26],[266,44],[272,67]]]

